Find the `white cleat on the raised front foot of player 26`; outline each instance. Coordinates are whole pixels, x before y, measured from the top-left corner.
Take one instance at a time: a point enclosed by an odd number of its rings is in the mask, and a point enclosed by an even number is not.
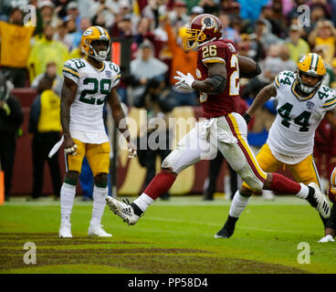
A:
[[[125,200],[126,203],[123,203],[108,195],[105,200],[110,211],[120,216],[123,222],[126,222],[129,225],[134,225],[138,222],[140,216],[134,214],[133,208],[127,199]]]

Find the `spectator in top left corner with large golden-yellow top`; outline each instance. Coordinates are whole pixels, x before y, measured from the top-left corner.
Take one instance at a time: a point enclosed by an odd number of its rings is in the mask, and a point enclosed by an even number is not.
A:
[[[23,26],[23,12],[17,7],[11,10],[8,23],[0,21],[0,65],[16,88],[26,86],[26,61],[33,32],[33,26]]]

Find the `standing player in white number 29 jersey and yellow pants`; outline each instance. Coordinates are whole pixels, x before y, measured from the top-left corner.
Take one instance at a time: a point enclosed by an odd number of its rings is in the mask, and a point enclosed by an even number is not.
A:
[[[87,58],[69,59],[63,67],[60,117],[67,173],[60,193],[59,237],[72,237],[70,215],[84,156],[94,176],[93,210],[88,235],[110,237],[100,225],[108,194],[110,168],[110,143],[102,110],[106,101],[110,104],[117,125],[125,118],[117,94],[121,70],[114,63],[105,61],[110,50],[110,36],[104,28],[90,26],[81,36],[81,49]],[[136,150],[130,141],[129,130],[119,130],[128,141],[129,156],[134,156]]]

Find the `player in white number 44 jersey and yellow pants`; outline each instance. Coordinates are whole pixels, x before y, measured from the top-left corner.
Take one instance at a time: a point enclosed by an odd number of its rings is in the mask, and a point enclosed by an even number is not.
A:
[[[248,123],[268,99],[275,97],[278,101],[276,120],[269,130],[266,144],[256,156],[264,172],[276,172],[285,165],[298,183],[320,187],[319,173],[312,156],[315,130],[324,116],[336,129],[336,95],[333,89],[321,85],[325,76],[326,65],[320,55],[310,53],[301,57],[296,72],[278,73],[274,83],[260,90],[244,114]],[[237,197],[249,198],[253,190],[243,183],[237,193]],[[316,207],[309,196],[297,196]],[[236,221],[248,203],[247,199],[240,201],[232,202],[226,224],[215,238],[233,235]],[[323,208],[329,208],[327,201],[324,204]],[[321,219],[326,224],[327,219]]]

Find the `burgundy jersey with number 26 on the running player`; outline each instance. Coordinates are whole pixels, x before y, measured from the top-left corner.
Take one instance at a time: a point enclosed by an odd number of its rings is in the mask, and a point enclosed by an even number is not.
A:
[[[198,80],[208,78],[207,65],[210,63],[226,65],[226,89],[220,94],[200,92],[203,117],[207,119],[236,111],[239,98],[239,65],[235,44],[228,39],[219,39],[200,47],[196,68]]]

